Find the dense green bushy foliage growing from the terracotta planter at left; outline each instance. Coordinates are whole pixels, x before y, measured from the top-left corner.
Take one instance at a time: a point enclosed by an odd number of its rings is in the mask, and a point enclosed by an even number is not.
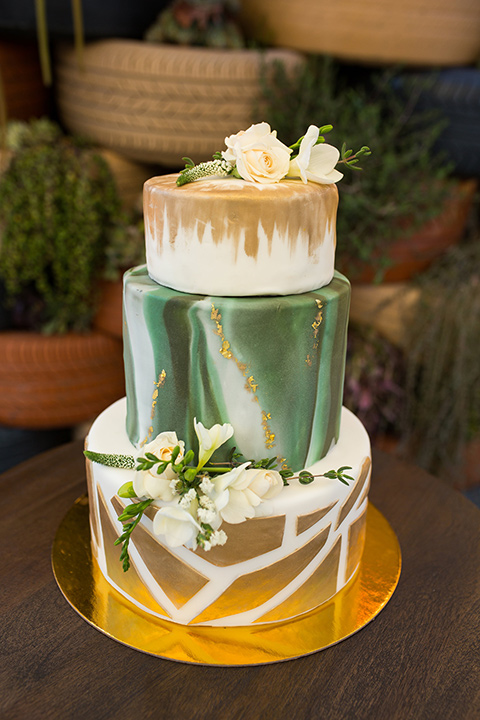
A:
[[[124,234],[105,160],[49,120],[12,123],[0,177],[0,279],[20,327],[84,330],[111,238]],[[117,239],[118,244],[118,239]]]

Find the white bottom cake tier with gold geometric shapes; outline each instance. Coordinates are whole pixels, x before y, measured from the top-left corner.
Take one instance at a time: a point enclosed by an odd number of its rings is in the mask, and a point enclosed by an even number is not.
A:
[[[94,422],[86,447],[94,452],[137,453],[125,431],[125,400]],[[348,466],[348,485],[324,477]],[[130,541],[131,567],[123,572],[117,495],[134,470],[87,460],[93,553],[108,582],[153,616],[184,625],[236,626],[287,620],[339,592],[361,561],[370,480],[370,442],[363,425],[343,408],[337,444],[309,470],[309,485],[291,480],[256,516],[223,523],[228,540],[209,551],[170,548],[153,533],[148,509]]]

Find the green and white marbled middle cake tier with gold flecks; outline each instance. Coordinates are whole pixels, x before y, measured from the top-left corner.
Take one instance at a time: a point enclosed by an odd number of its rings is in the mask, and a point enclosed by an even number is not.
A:
[[[197,448],[193,419],[230,422],[246,458],[301,469],[337,440],[350,301],[335,273],[282,297],[204,297],[125,275],[127,431],[139,446],[175,430]],[[213,311],[213,312],[212,312]]]

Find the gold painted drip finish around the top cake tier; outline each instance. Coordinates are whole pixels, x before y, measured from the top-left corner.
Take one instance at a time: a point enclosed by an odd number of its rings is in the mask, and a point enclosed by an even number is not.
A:
[[[304,184],[282,180],[259,186],[234,178],[199,181],[178,188],[176,175],[147,180],[144,215],[147,230],[159,249],[168,236],[195,234],[200,243],[228,242],[234,253],[243,247],[257,258],[262,238],[271,242],[275,232],[288,237],[292,248],[306,244],[310,256],[322,245],[328,228],[335,227],[338,190],[334,184]]]

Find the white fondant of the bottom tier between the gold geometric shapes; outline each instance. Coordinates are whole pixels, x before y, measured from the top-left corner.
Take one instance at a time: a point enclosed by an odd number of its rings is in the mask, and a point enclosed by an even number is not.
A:
[[[114,405],[107,408],[94,422],[88,439],[87,447],[89,450],[103,453],[114,454],[133,454],[135,448],[128,440],[125,431],[125,399],[119,400]],[[319,462],[312,465],[309,469],[313,474],[320,475],[328,470],[336,470],[343,465],[351,466],[349,472],[355,479],[358,478],[362,464],[365,458],[370,457],[370,442],[363,425],[360,421],[347,409],[343,408],[341,418],[340,437],[337,444],[332,450]],[[110,504],[110,498],[113,497],[120,485],[128,482],[133,477],[131,470],[118,470],[99,464],[92,464],[92,475],[94,485],[99,486],[104,497],[107,500],[109,512],[112,520],[117,524],[120,530],[120,524],[117,521],[116,513]],[[262,617],[266,612],[272,610],[281,604],[289,595],[294,592],[301,584],[311,575],[315,568],[323,561],[324,557],[331,550],[336,540],[342,538],[342,545],[346,546],[348,539],[348,530],[352,522],[362,515],[365,510],[365,499],[360,505],[357,502],[351,509],[350,513],[344,519],[340,527],[336,527],[338,514],[342,503],[352,491],[351,483],[346,486],[338,480],[329,480],[327,478],[316,478],[310,485],[301,485],[298,481],[290,481],[290,485],[282,490],[282,492],[268,503],[262,503],[257,508],[257,515],[285,515],[286,527],[281,547],[275,548],[263,555],[257,556],[250,560],[237,563],[232,566],[218,567],[212,565],[199,555],[192,553],[187,548],[180,547],[175,550],[170,549],[180,560],[187,562],[192,568],[196,569],[202,575],[209,578],[209,582],[196,593],[185,605],[178,609],[174,607],[163,592],[162,588],[157,585],[151,576],[148,568],[145,568],[143,561],[139,557],[135,548],[132,549],[132,559],[135,562],[137,571],[139,571],[147,587],[152,595],[158,599],[160,604],[167,609],[175,622],[187,624],[192,622],[203,609],[207,608],[217,597],[224,592],[230,584],[239,576],[259,570],[272,562],[281,560],[290,555],[295,550],[301,548],[325,527],[330,527],[328,540],[322,550],[309,563],[301,573],[299,573],[286,587],[278,592],[274,597],[263,603],[261,606],[253,608],[241,614],[231,615],[229,617],[219,618],[208,622],[208,625],[218,626],[235,626],[248,625]],[[297,515],[304,515],[315,510],[326,508],[332,503],[336,503],[333,508],[312,527],[308,528],[300,535],[296,534]],[[94,503],[91,505],[92,512],[97,512]],[[98,517],[100,525],[100,518]],[[151,521],[143,518],[142,522],[151,530]],[[248,520],[246,521],[248,523]],[[227,540],[228,542],[228,540]],[[132,538],[134,544],[134,538]],[[99,566],[107,580],[132,602],[132,598],[108,576],[105,562],[102,558],[103,551],[99,550]],[[346,578],[346,553],[341,553],[340,566],[336,579],[337,591],[341,589],[350,578]],[[146,570],[146,572],[143,572]],[[136,603],[139,605],[138,603]],[[139,605],[140,606],[140,605]],[[143,610],[146,608],[142,607]],[[152,613],[155,615],[155,613]],[[159,615],[159,617],[162,617]]]

